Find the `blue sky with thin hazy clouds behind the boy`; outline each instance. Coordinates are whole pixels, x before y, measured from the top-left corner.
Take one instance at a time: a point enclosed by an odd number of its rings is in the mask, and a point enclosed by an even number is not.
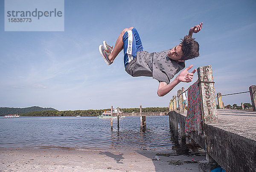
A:
[[[110,3],[111,2],[111,3]],[[113,45],[123,28],[134,26],[145,51],[174,47],[189,28],[200,56],[186,67],[212,65],[215,93],[247,91],[256,85],[256,1],[84,1],[65,0],[63,32],[4,31],[0,1],[0,107],[86,110],[167,107],[181,87],[157,96],[158,81],[125,72],[123,51],[106,65],[99,45]],[[51,27],[51,26],[46,26]],[[223,97],[227,104],[250,102],[250,94]]]

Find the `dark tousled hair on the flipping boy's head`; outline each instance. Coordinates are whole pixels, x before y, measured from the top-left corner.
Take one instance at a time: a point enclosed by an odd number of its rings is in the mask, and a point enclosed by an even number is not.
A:
[[[181,40],[181,60],[193,59],[199,56],[199,44],[197,41],[195,41],[195,38],[186,35]]]

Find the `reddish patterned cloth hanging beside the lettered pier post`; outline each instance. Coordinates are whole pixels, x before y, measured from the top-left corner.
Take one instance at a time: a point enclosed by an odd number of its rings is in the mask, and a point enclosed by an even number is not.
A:
[[[202,131],[202,113],[200,102],[200,91],[198,87],[198,80],[188,89],[188,111],[186,116],[185,132]]]

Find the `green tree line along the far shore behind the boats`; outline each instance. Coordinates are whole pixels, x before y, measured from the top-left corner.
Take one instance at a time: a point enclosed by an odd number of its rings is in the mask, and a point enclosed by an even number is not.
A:
[[[64,110],[64,111],[36,111],[29,113],[21,113],[20,116],[99,116],[105,110],[110,111],[111,109],[101,109],[101,110]],[[124,113],[140,112],[140,108],[120,108]],[[167,112],[168,107],[146,107],[142,108],[142,112]]]

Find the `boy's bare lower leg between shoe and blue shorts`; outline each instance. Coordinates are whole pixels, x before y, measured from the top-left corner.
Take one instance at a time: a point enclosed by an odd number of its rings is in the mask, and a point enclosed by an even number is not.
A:
[[[123,45],[124,42],[122,42],[122,37],[124,36],[126,31],[132,30],[134,27],[131,28],[125,28],[121,34],[119,35],[119,37],[116,40],[116,44],[115,47],[113,48],[113,51],[111,52],[111,54],[108,56],[109,61],[113,62],[114,59],[116,58],[116,56],[122,51],[123,49]]]

